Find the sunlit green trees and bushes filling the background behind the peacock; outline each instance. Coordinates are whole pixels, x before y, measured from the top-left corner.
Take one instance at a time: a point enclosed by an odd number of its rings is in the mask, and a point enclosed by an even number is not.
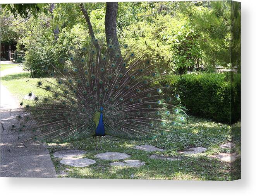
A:
[[[184,74],[203,69],[212,73],[215,72],[215,66],[229,68],[231,64],[240,70],[239,5],[229,1],[120,2],[117,15],[119,43],[133,46],[132,50],[137,56],[150,58],[159,72]],[[27,4],[21,10],[16,8],[18,18],[24,17],[22,12],[35,14],[36,17],[10,29],[22,29],[24,39],[31,41],[33,37],[44,34],[45,37],[40,39],[49,39],[49,47],[56,50],[54,58],[66,57],[64,48],[67,44],[88,43],[88,25],[79,3],[55,3],[52,13],[46,12],[49,6],[49,3]],[[17,6],[9,4],[4,9],[10,12],[10,7],[15,10]],[[84,8],[95,36],[104,40],[106,4],[84,3]],[[59,38],[55,40],[53,29],[56,27],[59,29]],[[4,35],[2,29],[1,36]],[[12,33],[9,30],[7,34]],[[22,41],[19,40],[19,43]]]

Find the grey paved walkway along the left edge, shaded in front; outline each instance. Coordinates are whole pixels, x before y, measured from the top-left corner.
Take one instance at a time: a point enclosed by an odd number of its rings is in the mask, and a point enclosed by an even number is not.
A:
[[[21,69],[21,68],[18,68]],[[8,70],[8,72],[7,72]],[[12,68],[1,72],[1,76],[9,74]],[[15,69],[16,70],[16,69]],[[27,148],[19,143],[18,133],[10,130],[14,124],[12,111],[19,106],[19,102],[4,87],[1,87],[1,177],[57,177],[55,168],[45,144],[28,143]],[[4,129],[3,129],[4,128]],[[24,135],[24,139],[31,135]]]

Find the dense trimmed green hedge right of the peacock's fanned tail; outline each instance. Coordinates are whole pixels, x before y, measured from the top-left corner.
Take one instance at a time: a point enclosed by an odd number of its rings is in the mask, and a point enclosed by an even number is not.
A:
[[[234,74],[231,82],[230,74],[168,75],[159,82],[177,88],[181,104],[188,114],[222,123],[235,123],[241,118],[241,75]]]

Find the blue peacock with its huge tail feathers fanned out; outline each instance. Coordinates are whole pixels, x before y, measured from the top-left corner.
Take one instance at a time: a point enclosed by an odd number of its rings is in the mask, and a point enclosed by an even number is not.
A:
[[[136,58],[133,48],[98,39],[81,48],[67,46],[69,58],[43,67],[54,80],[41,78],[35,84],[46,95],[34,95],[31,104],[22,101],[11,129],[33,133],[22,140],[24,145],[30,140],[61,143],[94,137],[98,149],[98,137],[103,149],[102,136],[154,139],[184,122],[176,89],[160,85],[165,76],[150,60]]]

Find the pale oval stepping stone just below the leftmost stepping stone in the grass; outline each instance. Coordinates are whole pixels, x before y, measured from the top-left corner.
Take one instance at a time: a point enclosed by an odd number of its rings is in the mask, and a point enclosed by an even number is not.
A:
[[[64,158],[60,161],[61,164],[64,164],[64,165],[70,165],[70,166],[73,166],[73,167],[86,167],[88,165],[91,165],[91,164],[94,164],[96,163],[95,160],[92,160],[92,159],[79,159],[79,158]]]

